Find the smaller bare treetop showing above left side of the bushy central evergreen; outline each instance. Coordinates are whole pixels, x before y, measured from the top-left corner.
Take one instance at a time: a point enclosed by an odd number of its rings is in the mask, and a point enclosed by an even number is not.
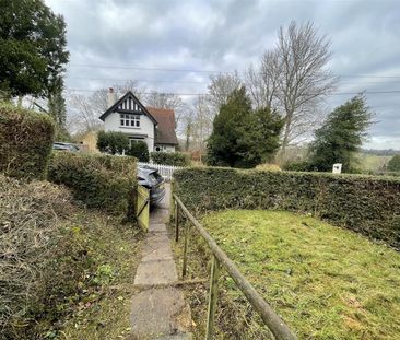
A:
[[[216,115],[221,105],[226,104],[230,94],[243,84],[237,71],[234,73],[211,74],[210,81],[209,101],[214,115]]]

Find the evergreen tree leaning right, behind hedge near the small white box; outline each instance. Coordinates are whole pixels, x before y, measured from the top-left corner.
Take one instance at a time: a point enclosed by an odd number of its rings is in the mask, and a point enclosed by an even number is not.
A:
[[[329,172],[334,163],[342,163],[343,172],[351,172],[354,154],[367,137],[373,113],[364,95],[357,95],[328,115],[311,143],[311,167]]]

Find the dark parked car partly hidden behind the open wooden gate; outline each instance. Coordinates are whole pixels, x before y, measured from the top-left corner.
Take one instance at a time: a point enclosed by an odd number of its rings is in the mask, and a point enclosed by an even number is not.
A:
[[[150,166],[138,167],[138,183],[150,190],[150,203],[158,203],[165,196],[164,178],[156,168]]]

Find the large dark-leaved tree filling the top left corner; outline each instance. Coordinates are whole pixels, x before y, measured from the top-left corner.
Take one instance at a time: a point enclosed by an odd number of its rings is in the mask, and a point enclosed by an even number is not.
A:
[[[66,23],[43,0],[0,0],[0,92],[55,91],[68,62]]]

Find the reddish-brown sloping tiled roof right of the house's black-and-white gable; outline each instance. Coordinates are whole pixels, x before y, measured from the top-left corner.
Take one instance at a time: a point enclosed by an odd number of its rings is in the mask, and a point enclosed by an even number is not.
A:
[[[158,122],[155,129],[155,144],[177,145],[178,139],[175,132],[175,112],[167,108],[146,107],[148,112]]]

